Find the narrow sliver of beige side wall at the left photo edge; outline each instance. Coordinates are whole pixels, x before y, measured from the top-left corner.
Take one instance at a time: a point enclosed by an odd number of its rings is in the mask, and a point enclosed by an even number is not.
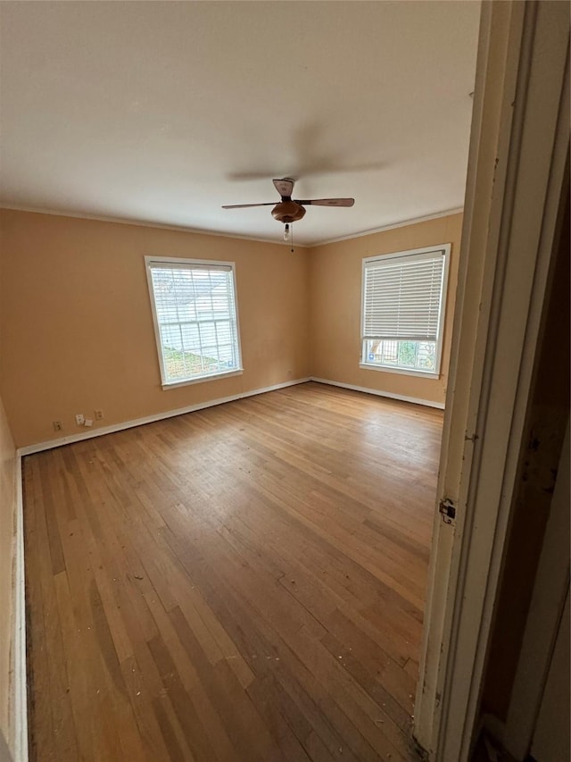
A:
[[[0,734],[12,738],[10,695],[12,683],[13,553],[16,493],[15,449],[0,399]],[[0,757],[2,743],[0,739]]]

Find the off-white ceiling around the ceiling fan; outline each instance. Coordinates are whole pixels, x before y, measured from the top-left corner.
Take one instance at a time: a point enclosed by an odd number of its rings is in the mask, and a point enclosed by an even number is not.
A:
[[[0,205],[312,245],[463,204],[479,2],[2,2]]]

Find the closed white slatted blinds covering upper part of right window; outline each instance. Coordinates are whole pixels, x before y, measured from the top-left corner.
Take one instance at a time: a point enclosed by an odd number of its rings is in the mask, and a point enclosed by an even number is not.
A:
[[[444,249],[364,262],[363,339],[437,340]]]

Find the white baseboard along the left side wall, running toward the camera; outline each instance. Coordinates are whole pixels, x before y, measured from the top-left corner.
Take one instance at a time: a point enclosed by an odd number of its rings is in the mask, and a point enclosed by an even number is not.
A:
[[[26,581],[24,572],[24,500],[21,455],[16,454],[16,540],[14,559],[13,751],[15,762],[28,762],[28,681],[26,671]]]

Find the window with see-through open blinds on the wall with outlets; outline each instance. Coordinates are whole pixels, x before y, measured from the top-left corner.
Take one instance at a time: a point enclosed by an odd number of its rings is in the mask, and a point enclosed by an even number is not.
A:
[[[234,263],[145,264],[163,388],[241,372]]]

